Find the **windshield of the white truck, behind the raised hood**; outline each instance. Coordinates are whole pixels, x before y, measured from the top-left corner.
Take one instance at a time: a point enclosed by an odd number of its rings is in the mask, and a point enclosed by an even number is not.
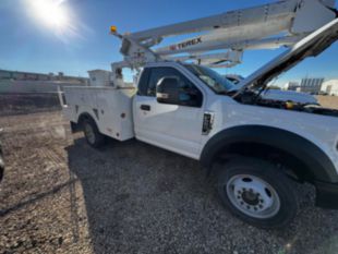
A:
[[[232,82],[209,68],[195,64],[185,64],[185,66],[217,94],[227,93],[236,87]]]

